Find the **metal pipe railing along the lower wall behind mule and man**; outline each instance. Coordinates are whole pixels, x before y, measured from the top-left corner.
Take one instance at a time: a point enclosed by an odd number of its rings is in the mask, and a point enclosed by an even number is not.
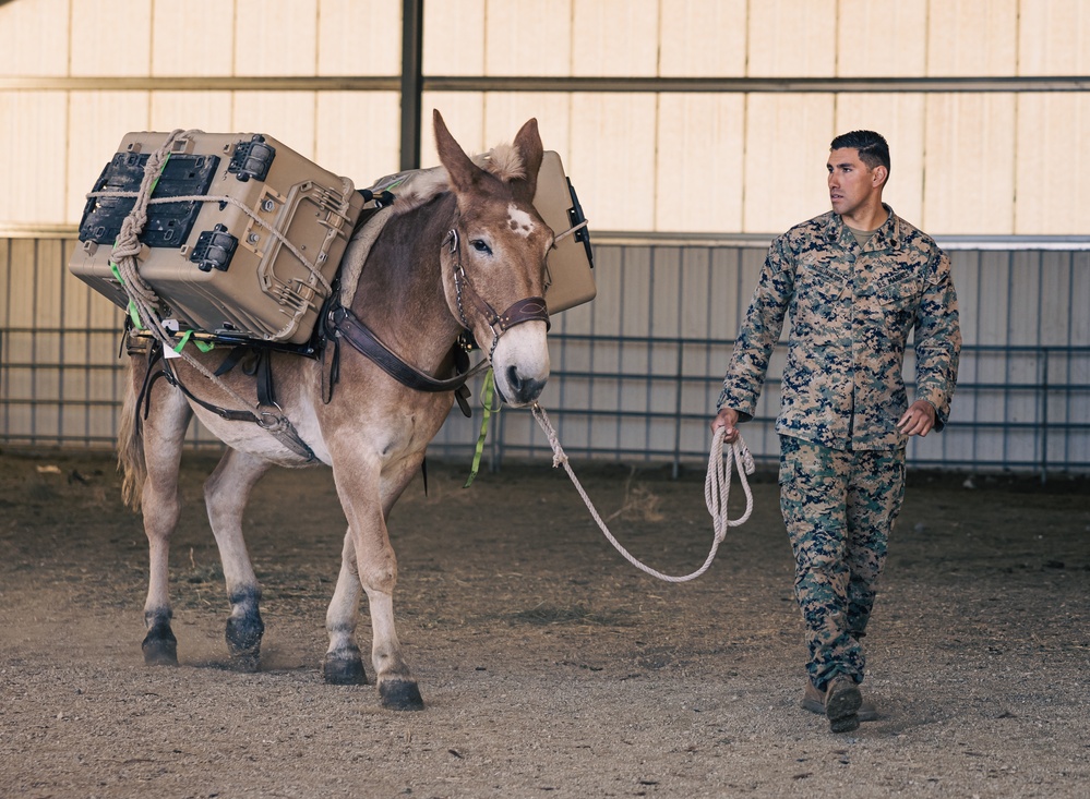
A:
[[[706,460],[708,422],[732,341],[571,334],[550,340],[554,368],[541,402],[570,456],[659,462],[674,473]],[[123,395],[118,343],[113,328],[0,329],[0,441],[111,447]],[[782,351],[781,344],[774,353],[757,414],[743,428],[758,461],[778,456],[774,425]],[[907,374],[912,366],[909,354]],[[1090,348],[969,346],[960,374],[949,425],[912,439],[910,465],[1042,479],[1090,472]],[[465,420],[455,410],[430,451],[468,458],[478,431],[479,414]],[[195,423],[188,443],[220,446]],[[550,451],[530,414],[504,410],[486,453],[495,470],[505,458]]]

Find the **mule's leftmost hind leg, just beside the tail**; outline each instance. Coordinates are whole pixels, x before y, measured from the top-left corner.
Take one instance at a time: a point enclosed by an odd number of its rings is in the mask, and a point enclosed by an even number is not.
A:
[[[140,379],[140,370],[136,370]],[[139,413],[140,409],[135,409]],[[192,412],[180,391],[160,382],[153,389],[147,419],[140,424],[146,477],[141,492],[144,533],[147,535],[148,581],[144,603],[147,634],[141,643],[144,663],[178,665],[178,641],[170,629],[173,615],[169,593],[170,535],[178,523],[181,501],[178,471],[182,440]]]

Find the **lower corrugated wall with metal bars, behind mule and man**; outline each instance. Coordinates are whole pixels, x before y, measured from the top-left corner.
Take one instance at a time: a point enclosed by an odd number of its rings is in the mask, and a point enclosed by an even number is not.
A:
[[[0,240],[0,441],[112,446],[123,394],[121,313],[67,274],[70,240]],[[541,397],[573,458],[699,465],[709,446],[732,337],[764,247],[607,244],[598,299],[554,320],[553,373]],[[950,424],[913,439],[910,464],[1022,473],[1090,473],[1090,254],[962,252],[960,379]],[[1029,340],[1027,342],[1027,340]],[[772,429],[782,346],[743,435],[758,460]],[[907,358],[906,375],[913,362]],[[474,387],[479,397],[479,385]],[[430,452],[471,457],[480,412],[457,410]],[[193,447],[218,447],[199,424]],[[493,417],[490,468],[549,458],[526,411]]]

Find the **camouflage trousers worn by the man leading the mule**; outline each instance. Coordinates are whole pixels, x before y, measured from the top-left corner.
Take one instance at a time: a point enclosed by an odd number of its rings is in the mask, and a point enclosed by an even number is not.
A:
[[[861,682],[860,639],[905,497],[905,450],[845,451],[780,436],[779,482],[806,626],[806,671],[819,689],[837,674]]]

